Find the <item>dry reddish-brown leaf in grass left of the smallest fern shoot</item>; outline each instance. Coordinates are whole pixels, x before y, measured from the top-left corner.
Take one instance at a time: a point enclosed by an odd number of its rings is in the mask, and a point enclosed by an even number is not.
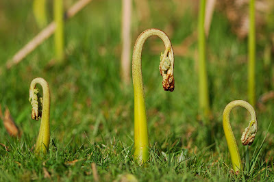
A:
[[[14,119],[12,118],[12,115],[10,114],[10,110],[8,109],[8,107],[5,108],[5,116],[3,118],[3,123],[9,135],[13,137],[21,137],[21,132],[15,125]]]

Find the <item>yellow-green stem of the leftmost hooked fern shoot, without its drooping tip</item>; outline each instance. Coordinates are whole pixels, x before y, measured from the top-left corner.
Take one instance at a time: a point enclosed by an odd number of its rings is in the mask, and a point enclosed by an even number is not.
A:
[[[36,84],[39,83],[42,86],[43,90],[43,99],[42,99],[42,118],[40,123],[40,129],[38,134],[38,139],[36,142],[35,153],[40,153],[42,151],[43,154],[47,153],[49,149],[49,110],[50,110],[50,92],[49,92],[49,84],[45,79],[36,78],[32,80],[30,83],[29,92],[34,93],[34,89],[36,88]],[[38,116],[37,116],[38,118]]]

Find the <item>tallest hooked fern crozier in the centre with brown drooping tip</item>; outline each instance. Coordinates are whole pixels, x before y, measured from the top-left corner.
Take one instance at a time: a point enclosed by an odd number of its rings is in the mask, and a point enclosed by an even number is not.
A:
[[[134,86],[134,159],[143,164],[149,157],[149,138],[147,131],[147,115],[145,109],[145,94],[142,83],[142,47],[145,40],[151,36],[158,36],[165,46],[164,54],[160,57],[160,73],[163,77],[164,90],[174,90],[174,54],[169,37],[159,29],[147,29],[137,38],[132,56],[132,79]]]

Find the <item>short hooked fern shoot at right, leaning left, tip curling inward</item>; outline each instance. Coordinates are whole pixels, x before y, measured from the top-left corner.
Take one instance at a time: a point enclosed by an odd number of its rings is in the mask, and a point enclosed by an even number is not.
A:
[[[240,139],[243,145],[251,145],[253,143],[255,135],[257,133],[257,119],[254,108],[249,103],[242,100],[232,101],[231,103],[227,104],[223,111],[223,130],[225,131],[225,138],[227,140],[228,150],[232,159],[232,168],[236,172],[236,174],[238,174],[238,172],[242,170],[242,162],[240,159],[240,154],[232,131],[232,127],[229,122],[229,114],[236,106],[245,107],[251,115],[249,126],[242,133],[242,138]]]

